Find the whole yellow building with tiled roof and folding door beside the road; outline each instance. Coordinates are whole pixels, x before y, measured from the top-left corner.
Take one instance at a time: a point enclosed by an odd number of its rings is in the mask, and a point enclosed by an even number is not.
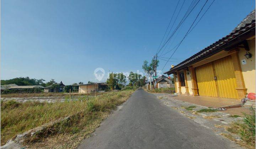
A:
[[[255,10],[230,34],[165,74],[174,74],[179,94],[241,99],[255,93]]]

